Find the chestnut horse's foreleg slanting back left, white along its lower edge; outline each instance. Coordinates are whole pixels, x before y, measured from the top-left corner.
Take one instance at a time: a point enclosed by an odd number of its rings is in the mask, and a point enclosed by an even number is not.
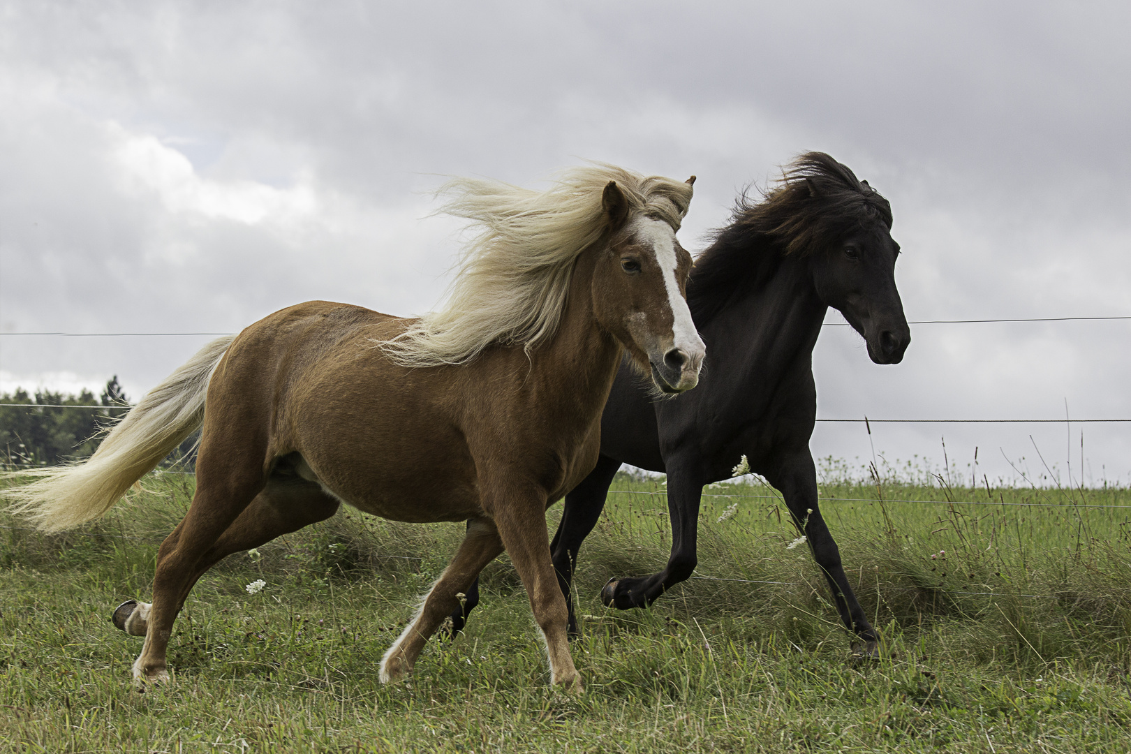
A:
[[[545,532],[545,523],[543,523]],[[465,591],[483,567],[503,551],[495,525],[486,518],[467,522],[467,535],[451,563],[432,584],[420,609],[389,651],[381,658],[382,683],[400,681],[416,664],[421,650],[443,619],[459,606],[457,595]]]

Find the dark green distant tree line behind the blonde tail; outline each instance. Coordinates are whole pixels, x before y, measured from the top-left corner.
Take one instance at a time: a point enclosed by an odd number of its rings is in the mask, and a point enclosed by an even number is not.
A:
[[[17,388],[0,393],[0,404],[6,404],[0,405],[0,462],[9,467],[58,466],[88,458],[130,409],[116,374],[97,396],[85,389],[76,396]],[[92,408],[58,408],[67,406]],[[196,436],[189,437],[169,460],[191,465],[195,445]]]

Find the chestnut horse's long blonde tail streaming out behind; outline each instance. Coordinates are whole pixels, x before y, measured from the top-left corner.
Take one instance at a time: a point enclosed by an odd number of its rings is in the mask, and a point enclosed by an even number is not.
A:
[[[81,463],[6,474],[36,477],[6,489],[9,510],[42,531],[96,519],[200,426],[208,381],[235,336],[213,340],[149,391]]]

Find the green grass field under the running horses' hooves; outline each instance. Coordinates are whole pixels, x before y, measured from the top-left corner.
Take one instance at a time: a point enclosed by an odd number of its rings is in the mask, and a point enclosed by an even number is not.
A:
[[[140,640],[107,618],[148,598],[191,476],[148,477],[80,532],[5,518],[0,751],[1131,751],[1131,492],[827,482],[822,512],[883,659],[851,659],[823,579],[757,483],[706,491],[696,579],[650,610],[606,610],[608,577],[657,570],[670,544],[662,480],[622,476],[630,492],[581,551],[576,699],[546,686],[506,556],[467,632],[430,642],[408,684],[379,683],[460,525],[345,511],[230,557],[181,614],[176,683],[138,693]]]

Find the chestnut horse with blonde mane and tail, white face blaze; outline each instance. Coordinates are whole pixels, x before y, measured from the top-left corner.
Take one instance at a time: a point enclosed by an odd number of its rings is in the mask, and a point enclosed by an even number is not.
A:
[[[169,679],[173,621],[205,571],[345,502],[396,521],[468,521],[385,655],[383,682],[412,671],[456,596],[506,549],[551,683],[579,691],[545,510],[597,461],[622,354],[663,392],[698,382],[691,257],[675,239],[693,180],[596,164],[544,193],[452,181],[446,211],[482,233],[440,311],[413,320],[314,301],[276,312],[206,346],[87,462],[17,489],[16,508],[48,531],[101,515],[202,425],[196,495],[158,551],[153,603],[114,612],[145,635],[139,683]]]

